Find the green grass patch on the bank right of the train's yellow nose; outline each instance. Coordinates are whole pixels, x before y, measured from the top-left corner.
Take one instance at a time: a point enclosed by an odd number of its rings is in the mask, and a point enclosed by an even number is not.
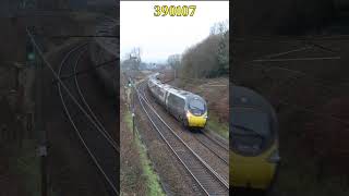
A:
[[[217,133],[222,138],[229,139],[229,124],[226,122],[219,122],[218,117],[213,112],[208,114],[206,127]]]

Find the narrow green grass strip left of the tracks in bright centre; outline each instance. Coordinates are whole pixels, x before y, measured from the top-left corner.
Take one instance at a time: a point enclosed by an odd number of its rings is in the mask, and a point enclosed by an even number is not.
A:
[[[128,111],[125,113],[124,122],[128,125],[128,130],[130,132],[132,132],[132,115],[131,115],[130,111]],[[137,131],[136,131],[136,133],[137,133]],[[146,147],[142,144],[142,142],[139,137],[139,133],[135,135],[136,135],[136,137],[134,137],[134,145],[135,145],[137,152],[140,155],[140,163],[142,167],[143,175],[146,179],[147,194],[163,196],[163,195],[165,195],[165,193],[161,188],[159,176],[157,175],[157,173],[154,171],[154,169],[152,167],[152,161],[149,160],[149,158],[147,156]]]

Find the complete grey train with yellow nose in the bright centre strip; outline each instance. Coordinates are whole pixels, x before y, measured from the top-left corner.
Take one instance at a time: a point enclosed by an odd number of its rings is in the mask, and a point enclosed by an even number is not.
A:
[[[163,105],[185,127],[203,128],[207,121],[206,101],[192,93],[177,89],[157,79],[158,73],[149,76],[148,88]]]

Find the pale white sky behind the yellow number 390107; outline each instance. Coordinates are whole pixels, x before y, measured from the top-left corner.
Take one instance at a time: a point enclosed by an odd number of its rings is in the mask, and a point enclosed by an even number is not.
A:
[[[154,5],[196,5],[194,16],[154,16]],[[144,62],[165,62],[209,35],[214,23],[229,20],[229,1],[121,1],[121,60],[134,47]]]

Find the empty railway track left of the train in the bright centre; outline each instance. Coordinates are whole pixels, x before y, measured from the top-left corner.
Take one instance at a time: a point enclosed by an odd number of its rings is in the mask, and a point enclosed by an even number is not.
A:
[[[228,195],[229,184],[183,142],[152,107],[141,88],[135,88],[143,111],[205,195]]]

